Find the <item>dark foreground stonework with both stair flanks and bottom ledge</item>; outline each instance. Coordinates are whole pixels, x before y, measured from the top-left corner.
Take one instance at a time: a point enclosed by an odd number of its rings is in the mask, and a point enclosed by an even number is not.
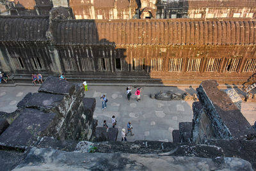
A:
[[[9,170],[174,170],[177,167],[183,170],[256,169],[255,140],[247,140],[248,137],[246,139],[244,136],[255,134],[255,131],[213,80],[202,82],[198,87],[200,102],[193,103],[192,128],[191,123],[180,123],[180,129],[173,133],[176,136],[173,137],[175,143],[146,140],[125,143],[115,140],[79,142],[76,138],[54,138],[54,135],[63,134],[61,131],[52,133],[56,128],[79,130],[77,126],[84,126],[85,130],[89,130],[86,132],[87,139],[91,135],[90,129],[95,129],[95,121],[92,121],[95,99],[83,98],[81,89],[83,87],[79,84],[48,77],[39,93],[30,93],[20,101],[19,110],[16,111],[19,116],[0,135],[1,166]],[[16,114],[10,115],[15,117]],[[61,120],[58,115],[62,115],[61,118],[66,115],[68,126],[63,121],[63,126],[58,127],[58,123],[61,123],[57,122]],[[10,121],[6,113],[1,112],[0,117]],[[106,128],[97,128],[94,140],[113,140],[116,130],[109,128],[109,132]],[[36,138],[37,135],[40,138]],[[65,134],[62,136],[65,137]],[[29,144],[28,139],[33,144]]]

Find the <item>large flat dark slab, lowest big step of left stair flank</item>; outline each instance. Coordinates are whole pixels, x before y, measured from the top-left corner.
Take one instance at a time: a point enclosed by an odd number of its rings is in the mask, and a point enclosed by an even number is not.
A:
[[[39,136],[49,133],[47,129],[55,116],[54,113],[26,108],[0,135],[0,142],[20,146],[34,145]]]

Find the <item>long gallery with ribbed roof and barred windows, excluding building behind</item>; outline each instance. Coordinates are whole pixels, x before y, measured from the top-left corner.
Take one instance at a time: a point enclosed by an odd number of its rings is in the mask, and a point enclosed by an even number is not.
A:
[[[71,20],[63,7],[50,14],[0,17],[0,66],[14,80],[40,71],[74,81],[240,84],[256,71],[251,19]]]

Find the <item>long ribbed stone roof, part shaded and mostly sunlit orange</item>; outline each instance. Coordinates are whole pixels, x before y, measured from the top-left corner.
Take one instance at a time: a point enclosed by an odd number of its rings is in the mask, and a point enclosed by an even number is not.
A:
[[[59,20],[57,45],[249,45],[256,43],[256,21],[199,20]]]

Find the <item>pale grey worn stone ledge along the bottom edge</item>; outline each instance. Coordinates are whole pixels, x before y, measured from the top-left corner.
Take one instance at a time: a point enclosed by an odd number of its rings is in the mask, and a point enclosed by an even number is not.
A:
[[[48,154],[48,155],[45,155]],[[33,165],[31,165],[33,163]],[[253,170],[239,158],[189,158],[157,154],[84,154],[33,148],[14,170]]]

